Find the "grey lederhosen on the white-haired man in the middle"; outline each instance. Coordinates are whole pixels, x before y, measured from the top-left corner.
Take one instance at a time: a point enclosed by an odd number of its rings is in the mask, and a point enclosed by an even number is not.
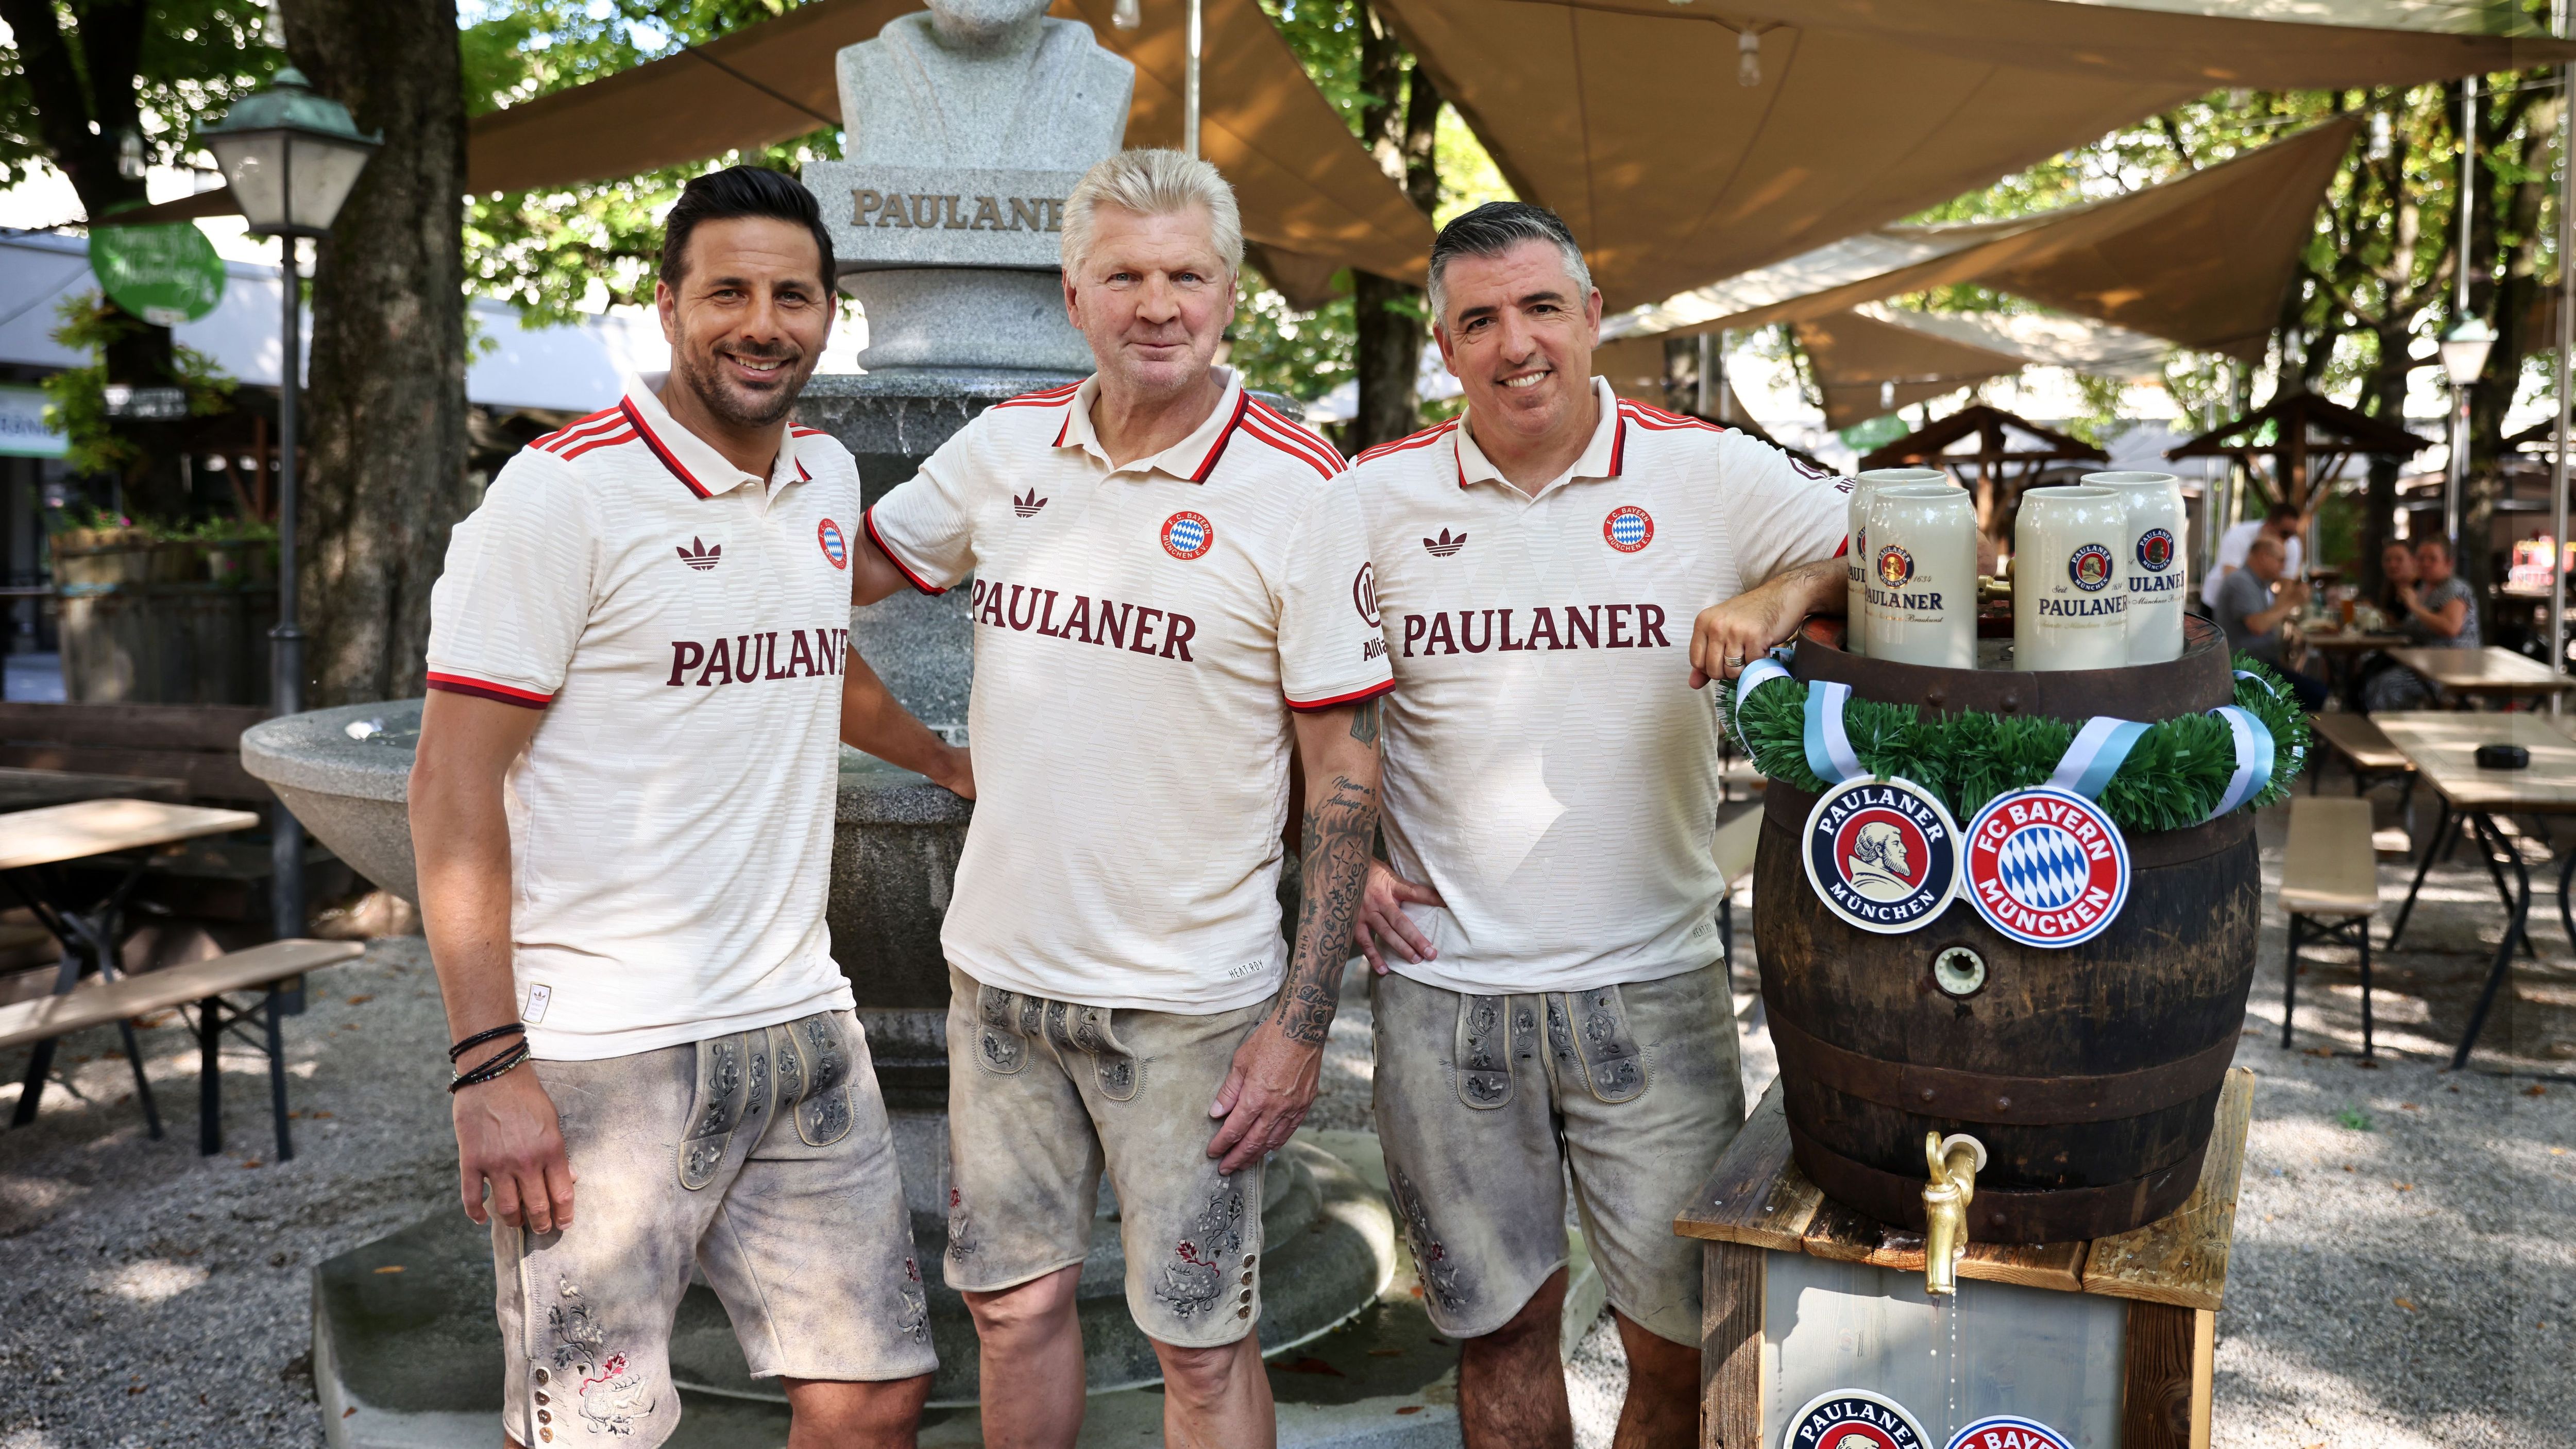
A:
[[[1270,1004],[1082,1006],[948,968],[948,1287],[999,1292],[1090,1253],[1118,1189],[1128,1313],[1175,1349],[1262,1318],[1262,1163],[1216,1171],[1208,1104]]]

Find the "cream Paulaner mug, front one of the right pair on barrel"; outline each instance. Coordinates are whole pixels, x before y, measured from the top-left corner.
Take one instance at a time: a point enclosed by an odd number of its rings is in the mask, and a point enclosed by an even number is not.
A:
[[[2014,669],[2128,664],[2128,499],[2120,489],[2022,494],[2012,525]]]

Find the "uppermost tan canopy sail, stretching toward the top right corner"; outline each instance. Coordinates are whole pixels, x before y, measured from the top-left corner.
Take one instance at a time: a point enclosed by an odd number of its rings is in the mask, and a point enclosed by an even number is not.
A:
[[[2385,21],[2388,8],[2313,0],[2295,13]],[[2200,15],[2076,0],[1381,0],[1381,10],[1512,188],[1566,216],[1613,309],[1883,226],[2218,88],[2403,85],[2576,57],[2548,39],[2233,18],[2244,5]],[[1739,36],[1754,36],[1749,54]],[[1739,85],[1747,62],[1757,85]]]

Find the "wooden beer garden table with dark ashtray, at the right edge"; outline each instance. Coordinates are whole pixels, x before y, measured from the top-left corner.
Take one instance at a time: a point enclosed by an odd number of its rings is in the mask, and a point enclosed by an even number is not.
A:
[[[2450,651],[2429,649],[2409,654]],[[2530,659],[2522,659],[2522,664],[2530,664]],[[2540,667],[2532,664],[2532,669]],[[2532,872],[2522,860],[2522,849],[2514,847],[2514,836],[2504,834],[2496,816],[2576,816],[2576,739],[2550,728],[2535,713],[2391,710],[2370,715],[2370,721],[2388,734],[2388,741],[2442,795],[2442,821],[2424,836],[2424,860],[2416,865],[2414,885],[2406,891],[2406,903],[2398,906],[2396,924],[2388,927],[2385,950],[2396,950],[2398,937],[2406,934],[2406,916],[2414,911],[2416,893],[2424,891],[2424,875],[2432,872],[2434,857],[2442,854],[2450,839],[2450,826],[2460,818],[2468,818],[2470,831],[2478,836],[2486,870],[2496,880],[2496,893],[2504,896],[2506,921],[2504,939],[2496,942],[2496,963],[2488,968],[2478,1004],[2468,1014],[2468,1029],[2460,1032],[2460,1045],[2450,1055],[2450,1066],[2458,1071],[2468,1066],[2468,1053],[2478,1045],[2478,1032],[2496,1004],[2496,991],[2504,988],[2512,973],[2514,947],[2522,945],[2530,950]],[[2476,759],[2481,744],[2519,744],[2532,752],[2532,762],[2524,770],[2481,770]],[[2499,857],[2514,867],[2514,891],[2504,885],[2504,870],[2496,865]],[[2576,875],[2576,852],[2566,852],[2566,860],[2558,865],[2558,921],[2566,924],[2568,939],[2576,939],[2576,914],[2568,909],[2571,875]]]

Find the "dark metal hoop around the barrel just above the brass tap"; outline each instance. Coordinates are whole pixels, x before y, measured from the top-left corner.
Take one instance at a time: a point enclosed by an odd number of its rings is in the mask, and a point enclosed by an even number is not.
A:
[[[1834,1091],[1917,1117],[1996,1122],[2007,1127],[2069,1127],[2115,1122],[2179,1107],[2218,1091],[2236,1060],[2236,1037],[2208,1050],[2141,1071],[2110,1076],[1996,1076],[1947,1066],[1909,1066],[1865,1058],[1816,1040],[1777,1009],[1770,1011],[1780,1068]]]

